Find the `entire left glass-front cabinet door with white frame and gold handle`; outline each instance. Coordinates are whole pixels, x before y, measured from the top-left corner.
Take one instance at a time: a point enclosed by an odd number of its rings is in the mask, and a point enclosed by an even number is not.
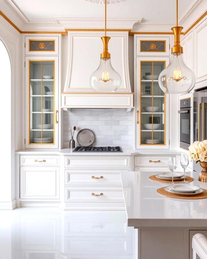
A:
[[[57,65],[58,57],[26,57],[26,148],[58,148]]]

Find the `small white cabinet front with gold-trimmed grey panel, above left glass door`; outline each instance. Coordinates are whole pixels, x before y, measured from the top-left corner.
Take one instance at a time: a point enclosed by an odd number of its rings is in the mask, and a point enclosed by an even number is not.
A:
[[[25,36],[25,55],[59,55],[59,36]]]

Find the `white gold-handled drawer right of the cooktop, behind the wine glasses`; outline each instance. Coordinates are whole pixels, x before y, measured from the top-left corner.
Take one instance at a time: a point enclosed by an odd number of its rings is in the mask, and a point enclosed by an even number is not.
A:
[[[161,156],[148,156],[148,157],[135,157],[135,166],[168,166],[169,157]]]

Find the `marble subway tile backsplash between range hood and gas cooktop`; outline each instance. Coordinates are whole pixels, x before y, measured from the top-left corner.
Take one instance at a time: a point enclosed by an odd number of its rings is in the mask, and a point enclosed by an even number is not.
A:
[[[69,127],[77,126],[74,134],[81,129],[90,129],[95,134],[94,146],[131,146],[133,140],[133,111],[125,109],[82,109],[64,111],[64,147],[69,147]],[[78,143],[76,142],[76,146]]]

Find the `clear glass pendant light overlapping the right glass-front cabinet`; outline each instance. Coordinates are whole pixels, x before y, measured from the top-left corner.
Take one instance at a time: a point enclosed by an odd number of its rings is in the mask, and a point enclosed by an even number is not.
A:
[[[183,47],[180,45],[180,34],[183,27],[178,26],[178,0],[176,0],[176,26],[171,28],[175,36],[175,43],[171,49],[170,64],[160,73],[158,83],[166,94],[189,93],[195,83],[195,73],[183,61]]]

